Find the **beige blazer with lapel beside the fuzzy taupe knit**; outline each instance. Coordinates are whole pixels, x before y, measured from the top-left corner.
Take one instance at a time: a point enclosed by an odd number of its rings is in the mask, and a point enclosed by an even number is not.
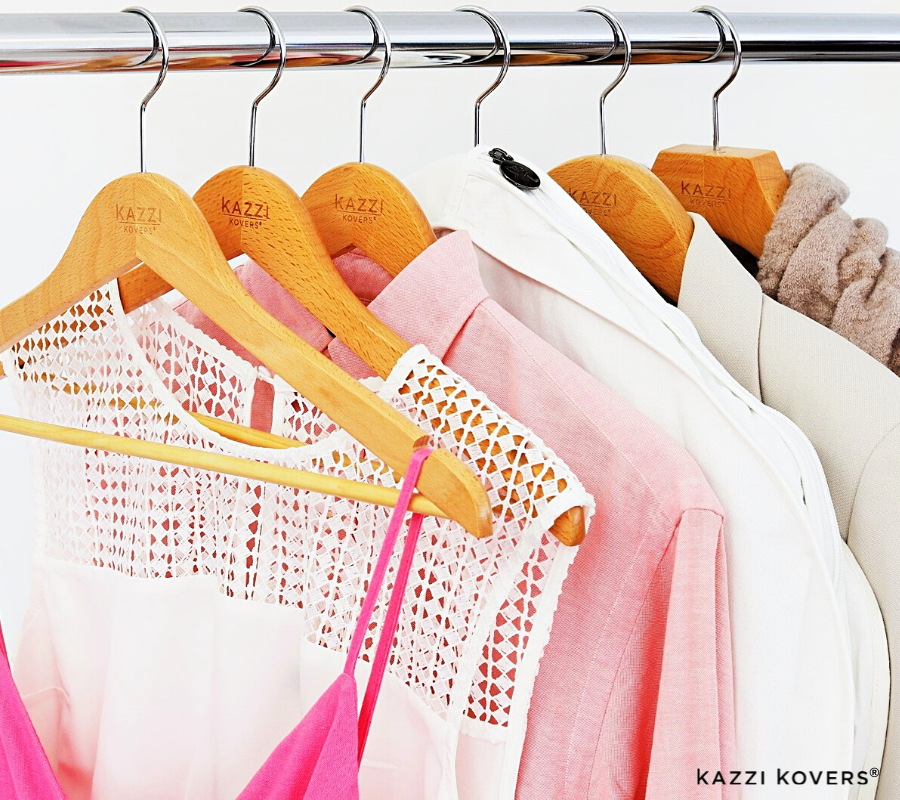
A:
[[[765,295],[709,223],[691,216],[678,307],[728,371],[812,441],[900,665],[900,377]],[[900,798],[900,691],[890,701],[878,798]]]

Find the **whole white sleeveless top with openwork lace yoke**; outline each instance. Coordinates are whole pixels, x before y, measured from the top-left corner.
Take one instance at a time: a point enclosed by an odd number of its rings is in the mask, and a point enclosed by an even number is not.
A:
[[[2,361],[34,419],[398,485],[297,392],[164,303],[126,316],[115,282]],[[275,387],[273,430],[304,446],[238,444],[185,412],[248,424],[258,380]],[[479,541],[456,523],[426,520],[364,797],[477,791],[493,800],[511,791],[501,776],[518,763],[538,660],[575,553],[548,529],[569,508],[590,512],[592,499],[533,433],[425,348],[405,354],[385,381],[368,383],[476,471],[495,532]],[[34,450],[39,553],[17,679],[64,789],[72,800],[233,800],[315,700],[315,687],[337,673],[390,510],[53,443]],[[136,599],[148,592],[165,597]],[[234,635],[245,623],[252,632]],[[217,638],[218,627],[228,635]],[[266,635],[254,645],[260,631]],[[191,641],[182,659],[169,652],[179,637]],[[193,650],[191,637],[208,638],[207,649]],[[376,644],[373,635],[364,659]],[[215,685],[222,659],[229,675],[219,696],[203,690],[169,705],[166,695],[185,685]],[[299,687],[269,685],[279,670]],[[256,703],[271,713],[244,707]],[[130,733],[116,735],[122,731]],[[458,778],[460,786],[482,785],[482,777],[484,790],[457,786]]]

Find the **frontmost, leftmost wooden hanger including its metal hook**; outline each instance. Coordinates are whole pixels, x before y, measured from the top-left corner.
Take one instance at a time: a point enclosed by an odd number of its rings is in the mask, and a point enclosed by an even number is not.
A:
[[[209,224],[173,181],[144,172],[143,117],[168,67],[168,45],[144,9],[163,67],[141,104],[141,169],[104,187],[88,206],[66,252],[35,289],[0,309],[0,350],[140,263],[178,289],[214,323],[280,375],[392,469],[403,472],[427,439],[362,384],[266,313],[241,286]],[[478,537],[492,530],[490,501],[475,475],[447,450],[428,459],[421,493]]]

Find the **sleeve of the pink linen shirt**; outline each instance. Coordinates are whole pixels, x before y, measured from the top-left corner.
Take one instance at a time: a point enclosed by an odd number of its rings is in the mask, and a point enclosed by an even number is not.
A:
[[[603,715],[590,800],[732,800],[734,689],[722,517],[682,514]],[[706,786],[699,775],[708,771]]]

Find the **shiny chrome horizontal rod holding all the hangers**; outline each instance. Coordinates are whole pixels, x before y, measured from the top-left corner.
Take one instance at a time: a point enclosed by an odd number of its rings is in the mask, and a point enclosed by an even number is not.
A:
[[[359,14],[279,13],[288,67],[381,65],[372,27]],[[618,15],[634,63],[729,60],[715,22],[703,14]],[[745,61],[900,61],[900,14],[730,14]],[[474,14],[382,15],[393,42],[393,67],[499,65],[494,34]],[[587,64],[613,48],[597,15],[497,14],[509,35],[513,66]],[[261,20],[241,13],[159,14],[171,69],[273,68],[278,53]],[[116,72],[157,69],[148,63],[150,31],[134,14],[0,14],[0,73]],[[621,60],[621,54],[610,63]]]

